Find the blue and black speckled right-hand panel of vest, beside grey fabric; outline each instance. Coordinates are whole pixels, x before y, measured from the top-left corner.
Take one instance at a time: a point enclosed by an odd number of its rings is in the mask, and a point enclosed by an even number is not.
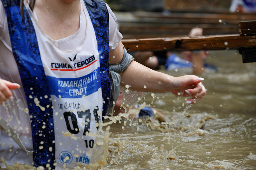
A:
[[[98,43],[103,97],[102,115],[105,116],[109,107],[111,89],[109,73],[109,13],[106,4],[102,0],[84,0],[84,3],[93,23]]]

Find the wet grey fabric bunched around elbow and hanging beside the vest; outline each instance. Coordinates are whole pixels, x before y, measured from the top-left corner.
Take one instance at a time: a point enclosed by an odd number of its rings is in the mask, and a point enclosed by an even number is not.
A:
[[[108,114],[113,110],[114,108],[114,103],[116,103],[117,98],[119,96],[119,91],[120,91],[120,73],[124,72],[134,59],[132,55],[127,53],[127,50],[124,48],[124,56],[121,61],[121,63],[113,64],[110,65],[110,81],[111,81],[111,93],[110,93],[110,103],[109,103],[109,109],[108,109]]]

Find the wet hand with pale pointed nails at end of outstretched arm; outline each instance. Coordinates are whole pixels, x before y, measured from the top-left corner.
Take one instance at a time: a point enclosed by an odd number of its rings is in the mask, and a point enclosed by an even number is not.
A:
[[[191,96],[187,104],[194,104],[206,95],[206,89],[201,81],[204,78],[197,76],[172,77],[172,93],[178,96]]]

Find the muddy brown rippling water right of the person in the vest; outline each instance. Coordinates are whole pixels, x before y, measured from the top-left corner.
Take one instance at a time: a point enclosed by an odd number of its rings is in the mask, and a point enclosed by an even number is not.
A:
[[[105,169],[256,169],[256,63],[242,63],[236,50],[210,51],[206,62],[218,72],[201,75],[207,94],[192,107],[172,94],[143,100],[175,124],[152,117],[110,125]]]

